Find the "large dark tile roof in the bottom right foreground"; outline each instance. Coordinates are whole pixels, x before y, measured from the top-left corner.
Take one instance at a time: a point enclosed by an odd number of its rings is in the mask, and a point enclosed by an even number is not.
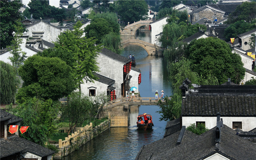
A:
[[[136,160],[202,160],[212,154],[221,154],[230,160],[254,160],[256,145],[236,135],[236,131],[223,125],[220,149],[215,150],[215,127],[201,135],[185,131],[180,145],[176,145],[180,132],[142,147]]]

